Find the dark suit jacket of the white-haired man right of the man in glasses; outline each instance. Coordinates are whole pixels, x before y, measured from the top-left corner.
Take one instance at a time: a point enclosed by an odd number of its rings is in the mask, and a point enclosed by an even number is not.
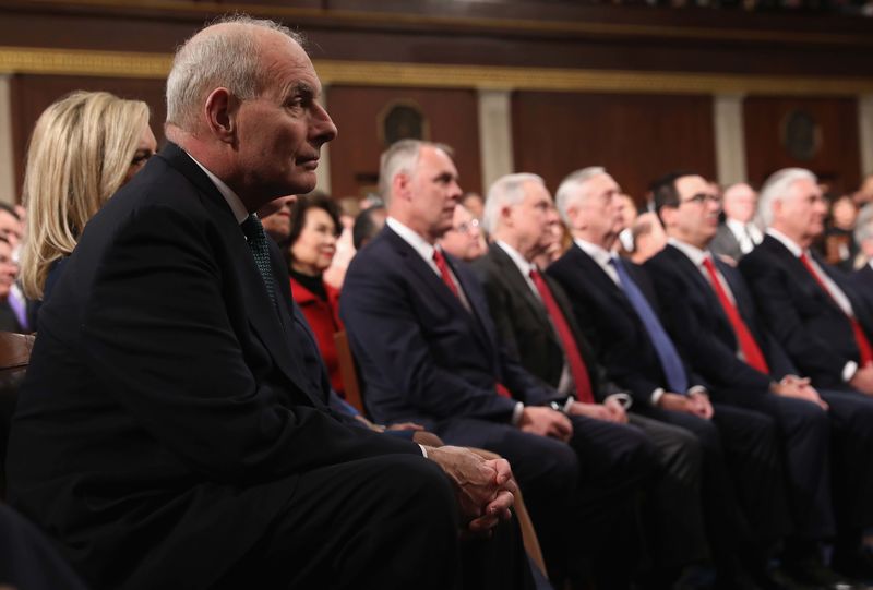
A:
[[[815,256],[815,254],[813,254]],[[873,335],[873,317],[844,275],[818,260],[851,300],[858,321]],[[770,236],[740,262],[767,327],[802,373],[818,387],[845,387],[842,370],[859,351],[846,315],[781,242]]]

